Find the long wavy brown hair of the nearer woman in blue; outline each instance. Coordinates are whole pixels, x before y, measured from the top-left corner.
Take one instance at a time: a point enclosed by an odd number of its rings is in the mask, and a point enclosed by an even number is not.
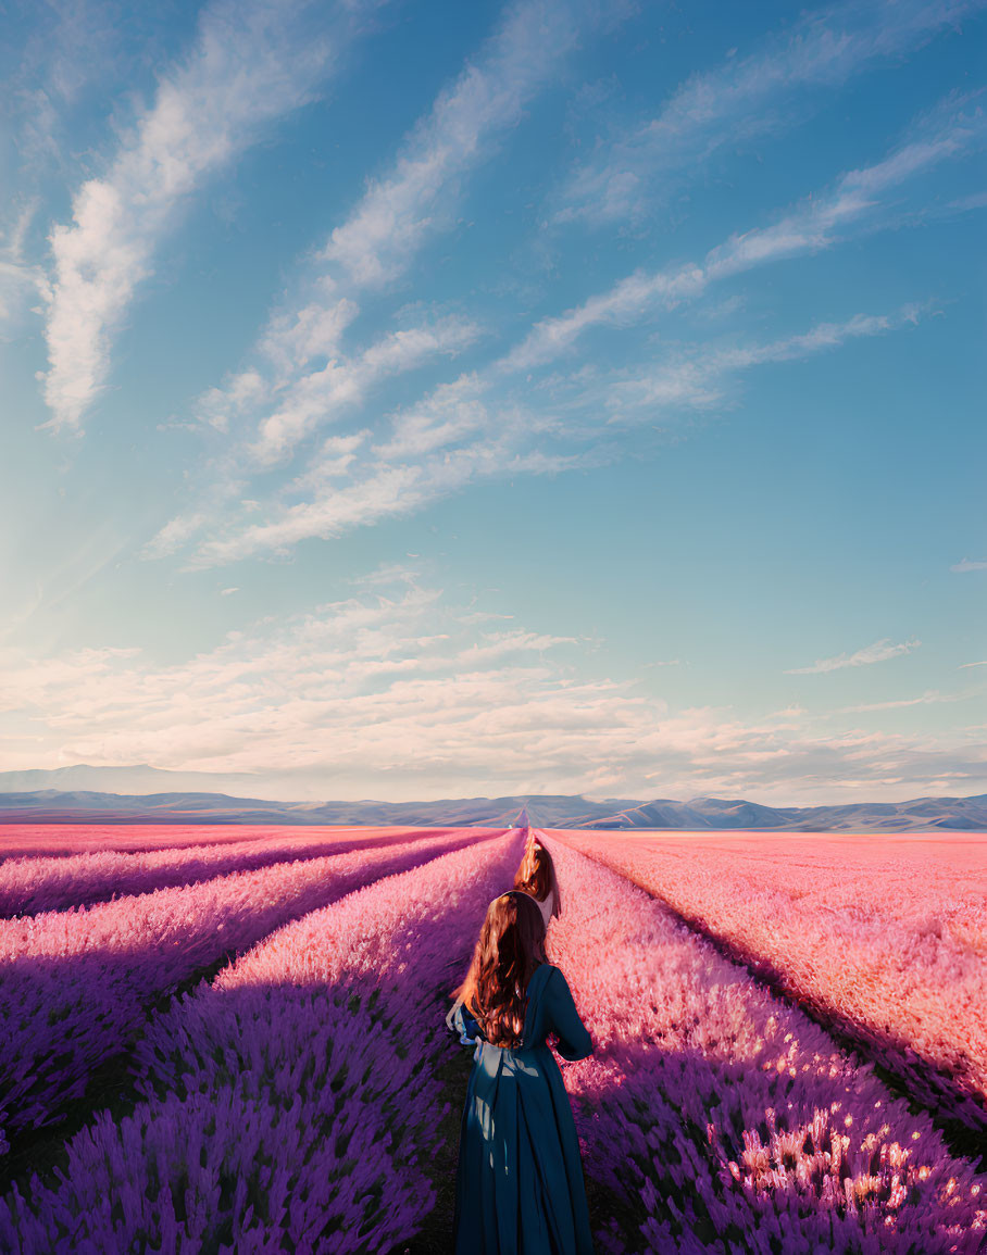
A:
[[[521,1044],[527,983],[544,961],[545,921],[531,895],[511,890],[495,899],[457,990],[487,1042],[509,1048]]]

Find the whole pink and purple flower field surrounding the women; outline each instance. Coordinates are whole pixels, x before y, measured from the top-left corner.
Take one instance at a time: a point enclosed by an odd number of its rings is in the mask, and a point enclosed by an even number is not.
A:
[[[598,1251],[987,1251],[987,838],[537,836]],[[3,832],[0,1250],[450,1250],[525,837]]]

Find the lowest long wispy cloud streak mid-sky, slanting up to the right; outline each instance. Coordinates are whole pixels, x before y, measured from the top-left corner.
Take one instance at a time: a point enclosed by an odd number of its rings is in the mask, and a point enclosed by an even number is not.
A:
[[[855,315],[843,324],[820,324],[765,344],[712,350],[697,345],[679,350],[673,363],[637,374],[588,379],[579,373],[568,382],[574,395],[545,409],[485,395],[491,387],[488,376],[463,375],[418,405],[398,410],[388,439],[372,444],[367,429],[328,438],[306,471],[269,497],[262,522],[254,517],[254,502],[239,513],[227,510],[222,526],[213,527],[213,535],[198,545],[186,570],[285,556],[303,541],[335,538],[358,527],[407,517],[485,479],[600,466],[619,456],[604,441],[608,428],[615,432],[620,424],[671,418],[683,409],[709,409],[725,403],[728,380],[745,370],[804,359],[915,319],[917,311],[908,306],[893,315]],[[293,503],[295,494],[304,499]],[[148,556],[176,552],[195,531],[173,521],[152,542],[158,548]]]

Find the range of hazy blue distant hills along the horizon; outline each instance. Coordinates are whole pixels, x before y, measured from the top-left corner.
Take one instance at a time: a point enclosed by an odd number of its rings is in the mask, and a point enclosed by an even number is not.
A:
[[[13,774],[13,773],[10,773]],[[24,774],[24,773],[20,773]],[[3,778],[0,777],[0,783]],[[694,797],[652,802],[524,796],[438,802],[278,802],[226,793],[108,793],[89,789],[0,792],[0,823],[271,823],[509,827],[525,809],[541,828],[784,830],[790,832],[987,831],[987,794],[922,797],[910,802],[772,807],[743,799]]]

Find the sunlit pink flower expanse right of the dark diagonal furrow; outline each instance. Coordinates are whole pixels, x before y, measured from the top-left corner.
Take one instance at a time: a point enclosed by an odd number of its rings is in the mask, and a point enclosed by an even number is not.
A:
[[[740,950],[924,1106],[987,1136],[982,842],[694,836],[564,840]]]

